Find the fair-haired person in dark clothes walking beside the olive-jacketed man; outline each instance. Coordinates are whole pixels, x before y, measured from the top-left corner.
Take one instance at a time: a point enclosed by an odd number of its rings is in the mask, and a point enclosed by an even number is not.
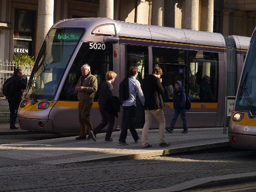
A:
[[[97,127],[94,128],[93,133],[94,135],[98,134],[99,131],[101,131],[108,124],[105,142],[113,141],[113,139],[111,138],[111,134],[113,126],[115,124],[115,113],[109,112],[109,110],[106,111],[106,109],[104,109],[104,106],[106,105],[106,102],[110,100],[110,98],[112,97],[112,83],[115,81],[116,77],[117,73],[113,71],[108,71],[105,76],[106,81],[104,81],[101,84],[101,87],[99,88],[98,105],[99,112],[102,115],[102,123],[100,123]]]

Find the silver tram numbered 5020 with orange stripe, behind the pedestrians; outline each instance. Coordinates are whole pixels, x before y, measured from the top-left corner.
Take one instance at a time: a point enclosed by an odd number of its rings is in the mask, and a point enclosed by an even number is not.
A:
[[[219,127],[224,122],[224,96],[235,95],[249,37],[126,23],[107,18],[67,19],[49,30],[37,56],[18,110],[21,129],[41,132],[78,132],[75,85],[84,63],[91,66],[98,87],[108,70],[118,76],[113,94],[130,66],[137,66],[142,82],[154,66],[163,69],[166,126],[172,119],[176,80],[191,97],[188,127]],[[229,87],[226,90],[225,87]],[[98,92],[97,92],[98,93]],[[101,121],[98,96],[91,112],[93,126]],[[137,99],[134,123],[144,125],[144,110]],[[122,114],[115,128],[121,127]],[[182,122],[177,121],[178,127]],[[152,128],[158,127],[157,123]]]

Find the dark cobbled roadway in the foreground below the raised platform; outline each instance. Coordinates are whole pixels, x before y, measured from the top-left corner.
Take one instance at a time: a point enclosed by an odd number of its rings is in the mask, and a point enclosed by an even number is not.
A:
[[[256,171],[256,152],[225,149],[121,161],[0,166],[0,191],[136,191]],[[0,159],[2,160],[2,159]],[[23,163],[22,163],[23,162]]]

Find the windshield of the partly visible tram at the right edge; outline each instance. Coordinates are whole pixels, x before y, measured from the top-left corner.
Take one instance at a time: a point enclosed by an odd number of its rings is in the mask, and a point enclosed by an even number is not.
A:
[[[243,76],[237,94],[236,110],[251,111],[255,114],[256,110],[256,36],[251,40],[248,51]]]

